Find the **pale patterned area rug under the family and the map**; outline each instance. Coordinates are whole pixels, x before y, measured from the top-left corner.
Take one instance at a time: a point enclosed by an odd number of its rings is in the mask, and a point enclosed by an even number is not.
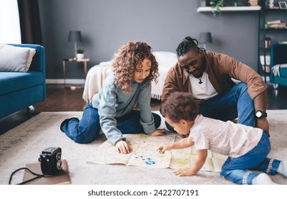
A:
[[[81,117],[82,112],[41,112],[18,127],[0,136],[0,184],[9,183],[10,175],[26,163],[36,163],[43,149],[58,146],[62,158],[68,161],[72,184],[233,184],[219,173],[199,171],[196,176],[174,176],[171,168],[144,168],[125,165],[102,165],[86,163],[90,154],[106,138],[101,134],[90,144],[77,144],[60,130],[61,122],[72,116]],[[269,157],[287,159],[287,110],[268,110],[272,150]],[[20,183],[23,173],[19,171],[12,184]],[[272,176],[273,181],[287,184],[283,176]]]

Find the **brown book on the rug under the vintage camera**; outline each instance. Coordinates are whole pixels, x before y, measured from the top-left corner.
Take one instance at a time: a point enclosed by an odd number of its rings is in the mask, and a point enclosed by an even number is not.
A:
[[[41,163],[28,163],[26,168],[29,168],[34,173],[42,174]],[[26,185],[68,185],[71,183],[69,172],[68,172],[68,163],[65,159],[62,159],[62,171],[59,171],[55,176],[44,176],[42,178],[37,178],[31,182],[25,183]],[[34,178],[32,173],[25,170],[23,176],[23,182],[28,181],[31,178]]]

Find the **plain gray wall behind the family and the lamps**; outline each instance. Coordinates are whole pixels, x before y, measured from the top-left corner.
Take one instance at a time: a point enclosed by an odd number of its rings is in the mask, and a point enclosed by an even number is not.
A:
[[[127,41],[146,41],[153,50],[175,52],[182,38],[212,32],[207,50],[225,53],[257,70],[258,11],[197,13],[199,0],[39,0],[46,78],[63,79],[62,60],[74,55],[68,32],[79,30],[89,68],[113,58]],[[83,79],[80,63],[67,78]],[[74,66],[72,66],[74,65]],[[72,68],[73,67],[73,68]]]

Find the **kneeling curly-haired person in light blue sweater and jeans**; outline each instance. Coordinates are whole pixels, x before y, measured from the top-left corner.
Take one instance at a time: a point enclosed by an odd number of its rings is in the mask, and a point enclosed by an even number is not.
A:
[[[150,45],[128,42],[119,49],[113,62],[113,73],[93,96],[82,119],[65,119],[61,131],[77,143],[90,143],[102,129],[121,154],[131,151],[122,134],[165,134],[165,129],[157,129],[161,119],[150,107],[151,81],[158,75],[158,64]],[[140,111],[134,110],[137,104]]]

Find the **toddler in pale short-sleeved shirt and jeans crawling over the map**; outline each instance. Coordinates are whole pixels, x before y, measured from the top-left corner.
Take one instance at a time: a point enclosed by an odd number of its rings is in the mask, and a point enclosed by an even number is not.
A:
[[[193,145],[197,150],[194,165],[191,168],[177,169],[174,171],[177,176],[195,175],[207,158],[207,150],[210,150],[229,156],[220,174],[235,183],[276,184],[266,173],[281,173],[287,177],[287,161],[266,157],[271,146],[262,129],[203,117],[198,114],[198,105],[191,93],[172,93],[162,106],[162,115],[179,134],[188,137],[169,145],[163,144],[159,147],[161,153]]]

